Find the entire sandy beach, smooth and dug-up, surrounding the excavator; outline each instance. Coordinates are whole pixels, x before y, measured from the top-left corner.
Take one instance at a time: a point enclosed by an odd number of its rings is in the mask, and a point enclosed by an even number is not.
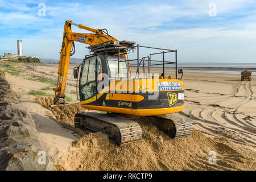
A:
[[[68,74],[68,92],[75,90],[76,85],[72,66]],[[20,65],[19,69],[23,75],[34,78],[55,80],[57,77],[57,65]],[[46,148],[55,147],[53,151],[48,150],[47,155],[62,169],[255,170],[255,76],[251,82],[241,82],[240,75],[184,73],[185,108],[179,114],[192,118],[191,137],[174,140],[146,123],[144,118],[131,117],[141,125],[143,140],[125,147],[118,147],[104,134],[74,129],[73,115],[77,111],[88,111],[79,105],[51,108],[51,98],[26,94],[30,89],[49,85],[9,74],[6,78],[19,96],[20,107],[40,115],[34,115],[40,139]],[[75,98],[75,94],[72,97]],[[216,152],[217,164],[208,163],[209,151]]]

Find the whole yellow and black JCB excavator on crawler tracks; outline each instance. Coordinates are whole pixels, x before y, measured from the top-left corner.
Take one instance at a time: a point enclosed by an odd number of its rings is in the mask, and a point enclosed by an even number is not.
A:
[[[72,25],[92,33],[72,32]],[[139,124],[123,115],[130,114],[144,117],[145,122],[153,123],[172,138],[189,137],[192,134],[191,120],[175,115],[184,107],[184,84],[177,78],[177,72],[183,75],[181,69],[177,70],[177,50],[138,44],[134,46],[135,42],[113,38],[106,29],[96,30],[75,24],[72,20],[67,20],[64,26],[57,72],[59,78],[57,87],[53,88],[55,105],[65,104],[65,85],[69,60],[75,53],[75,41],[89,44],[87,48],[91,53],[73,71],[77,84],[79,82],[79,86],[76,86],[79,88],[77,99],[86,109],[107,112],[77,113],[75,127],[101,131],[122,146],[142,139]],[[157,49],[160,52],[140,58],[139,48]],[[128,53],[135,49],[137,59],[129,60]],[[175,61],[164,60],[166,53],[175,53]],[[163,60],[152,60],[154,55],[162,55]],[[134,61],[136,67],[130,64]],[[175,64],[176,79],[171,76],[165,78],[166,64]],[[150,73],[150,69],[156,65],[163,68],[159,77]],[[170,113],[173,113],[171,118],[169,115],[168,119],[163,117],[163,114]]]

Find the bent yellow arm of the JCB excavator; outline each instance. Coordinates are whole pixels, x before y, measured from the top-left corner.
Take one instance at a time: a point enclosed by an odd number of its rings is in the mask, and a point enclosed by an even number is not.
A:
[[[71,26],[75,25],[81,29],[88,30],[93,32],[89,33],[75,33],[72,32]],[[69,60],[70,57],[75,53],[75,43],[80,42],[89,45],[97,45],[109,41],[117,41],[117,39],[113,38],[108,34],[108,31],[105,29],[94,29],[90,27],[86,27],[82,24],[75,24],[72,20],[67,20],[64,25],[64,32],[63,32],[63,42],[60,51],[60,62],[59,62],[59,69],[58,69],[58,80],[56,88],[53,88],[55,91],[55,98],[53,104],[64,104],[65,98],[65,85],[67,82],[67,75],[68,75],[68,67],[69,67]]]

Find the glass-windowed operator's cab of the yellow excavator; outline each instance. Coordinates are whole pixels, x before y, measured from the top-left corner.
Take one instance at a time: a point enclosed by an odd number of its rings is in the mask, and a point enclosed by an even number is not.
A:
[[[125,60],[123,56],[119,56],[119,60]],[[81,67],[78,79],[79,69]],[[117,55],[92,55],[84,59],[79,67],[74,68],[74,78],[79,81],[79,97],[80,101],[86,101],[96,96],[98,92],[98,84],[104,79],[114,80],[115,78],[127,78],[128,67],[126,62],[119,63],[118,73],[118,57]],[[108,102],[105,102],[108,104]]]

